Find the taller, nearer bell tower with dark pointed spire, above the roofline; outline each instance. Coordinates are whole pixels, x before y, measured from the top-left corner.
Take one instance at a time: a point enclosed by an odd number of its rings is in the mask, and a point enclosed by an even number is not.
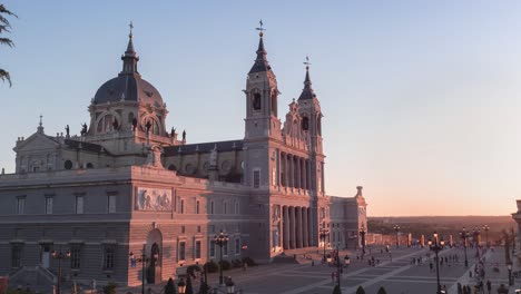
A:
[[[260,22],[257,58],[246,80],[245,139],[279,138],[277,118],[278,88],[275,74],[266,58],[264,28]]]

